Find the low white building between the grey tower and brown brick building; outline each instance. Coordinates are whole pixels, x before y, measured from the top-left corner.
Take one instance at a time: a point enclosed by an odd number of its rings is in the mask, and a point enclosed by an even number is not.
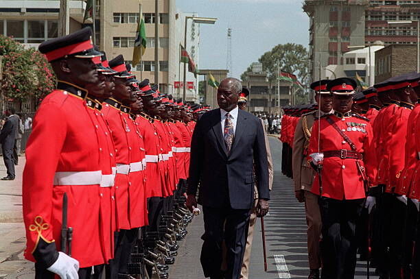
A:
[[[362,47],[344,53],[344,63],[326,66],[322,70],[325,71],[322,75],[325,75],[329,80],[334,80],[336,77],[351,77],[355,79],[357,73],[366,84],[373,86],[375,84],[375,51],[383,48],[384,43],[375,42],[370,47]]]

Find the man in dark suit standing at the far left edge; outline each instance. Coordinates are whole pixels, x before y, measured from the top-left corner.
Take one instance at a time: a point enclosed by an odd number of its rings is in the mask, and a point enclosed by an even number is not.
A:
[[[0,132],[0,143],[1,151],[3,152],[3,160],[6,169],[8,169],[8,175],[1,180],[14,180],[14,156],[13,148],[14,141],[16,141],[16,133],[19,128],[19,117],[14,114],[14,108],[9,108],[5,111],[8,119],[5,121],[3,128]]]

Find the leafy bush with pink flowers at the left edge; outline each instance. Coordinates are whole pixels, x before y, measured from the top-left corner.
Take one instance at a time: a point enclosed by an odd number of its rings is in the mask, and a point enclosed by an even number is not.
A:
[[[54,88],[56,78],[47,59],[39,51],[12,38],[0,36],[0,56],[3,56],[1,89],[7,99],[19,103],[33,101],[33,108],[40,99]]]

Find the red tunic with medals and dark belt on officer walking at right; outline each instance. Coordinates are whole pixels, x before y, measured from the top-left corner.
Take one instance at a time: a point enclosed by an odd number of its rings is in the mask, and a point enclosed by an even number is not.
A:
[[[338,125],[338,128],[349,136],[356,147],[355,151],[364,154],[363,160],[342,159],[339,157],[324,158],[322,172],[323,197],[339,200],[362,199],[366,197],[364,182],[356,161],[366,169],[367,177],[370,180],[369,186],[375,184],[375,152],[371,146],[373,138],[372,127],[369,121],[354,115],[346,114],[346,117],[338,117],[336,114],[331,114],[321,117],[320,120],[314,122],[312,131],[318,131],[318,125],[320,125],[320,134],[318,132],[312,133],[308,154],[341,149],[351,150],[349,143],[340,136],[338,131],[327,121],[326,117],[330,117]],[[318,151],[319,139],[320,149]],[[310,160],[309,156],[308,160]],[[312,185],[312,193],[319,195],[319,192],[319,178],[318,174],[316,174]]]

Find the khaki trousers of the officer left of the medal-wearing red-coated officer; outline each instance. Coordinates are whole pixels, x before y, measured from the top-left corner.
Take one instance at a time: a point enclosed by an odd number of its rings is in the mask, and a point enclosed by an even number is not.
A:
[[[305,213],[307,223],[307,254],[310,269],[319,269],[320,260],[320,235],[323,223],[320,217],[318,195],[305,191]]]

